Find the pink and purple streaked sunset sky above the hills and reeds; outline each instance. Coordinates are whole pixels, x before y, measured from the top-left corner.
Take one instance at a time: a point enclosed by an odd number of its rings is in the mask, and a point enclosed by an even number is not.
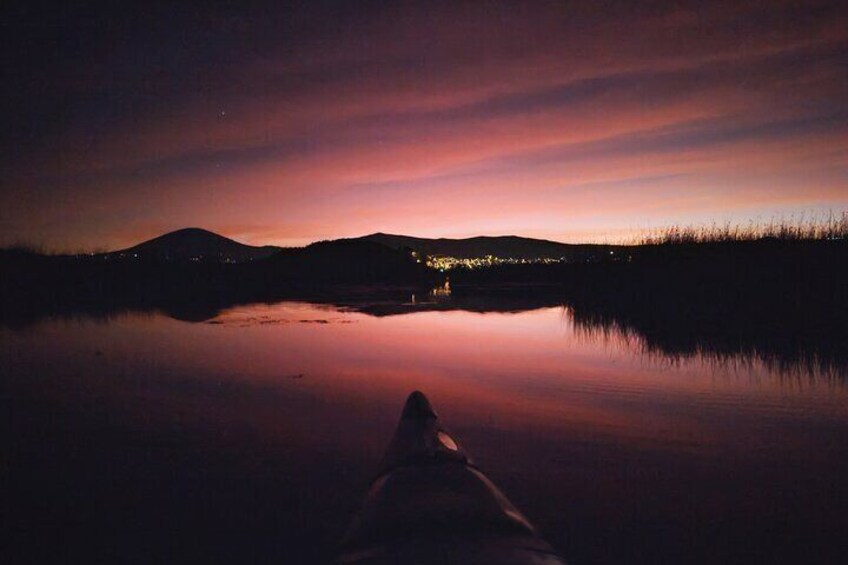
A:
[[[6,4],[0,245],[848,209],[845,2]]]

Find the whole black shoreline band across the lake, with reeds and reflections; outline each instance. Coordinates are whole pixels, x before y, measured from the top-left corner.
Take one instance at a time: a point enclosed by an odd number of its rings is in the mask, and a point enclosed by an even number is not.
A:
[[[24,326],[48,316],[105,317],[126,310],[196,321],[237,304],[285,299],[374,315],[561,304],[583,329],[636,335],[651,351],[672,357],[744,357],[784,371],[848,374],[845,215],[801,226],[671,228],[641,245],[600,246],[579,260],[447,275],[417,262],[413,249],[397,248],[396,240],[384,245],[374,239],[280,249],[235,264],[220,257],[174,260],[173,254],[164,259],[3,250],[0,323]],[[452,294],[433,298],[431,289],[446,276]]]

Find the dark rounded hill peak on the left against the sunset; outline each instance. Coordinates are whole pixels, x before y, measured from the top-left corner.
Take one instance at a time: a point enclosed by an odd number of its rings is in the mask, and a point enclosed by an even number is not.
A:
[[[282,248],[254,247],[200,228],[185,228],[145,241],[134,247],[106,253],[109,258],[133,258],[163,262],[204,261],[246,263],[265,259]]]

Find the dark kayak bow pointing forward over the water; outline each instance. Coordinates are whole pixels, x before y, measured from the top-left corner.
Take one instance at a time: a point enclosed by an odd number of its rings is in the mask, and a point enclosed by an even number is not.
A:
[[[418,391],[406,401],[337,562],[564,564]]]

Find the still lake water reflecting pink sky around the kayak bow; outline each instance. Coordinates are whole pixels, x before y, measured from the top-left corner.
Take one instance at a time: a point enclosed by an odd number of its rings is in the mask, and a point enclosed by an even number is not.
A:
[[[4,562],[321,562],[424,391],[570,562],[848,554],[848,386],[565,308],[307,303],[0,329]]]

